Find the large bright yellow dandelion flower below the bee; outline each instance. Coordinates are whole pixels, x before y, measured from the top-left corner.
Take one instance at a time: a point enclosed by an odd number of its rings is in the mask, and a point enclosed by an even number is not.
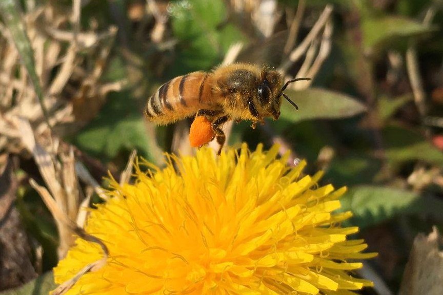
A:
[[[354,278],[363,240],[333,213],[345,188],[318,187],[321,173],[288,167],[278,146],[215,156],[174,157],[163,170],[136,165],[135,184],[113,183],[112,198],[93,210],[86,231],[109,249],[106,265],[88,272],[68,294],[352,294],[372,282]],[[175,168],[173,166],[175,165]],[[147,163],[145,163],[147,164]],[[102,257],[77,239],[55,268],[72,278]],[[351,261],[352,260],[352,261]]]

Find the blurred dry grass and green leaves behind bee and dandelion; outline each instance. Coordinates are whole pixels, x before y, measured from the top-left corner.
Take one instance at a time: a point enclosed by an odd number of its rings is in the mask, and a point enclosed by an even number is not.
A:
[[[156,127],[146,100],[234,61],[312,80],[286,92],[298,112],[283,101],[255,130],[226,124],[228,145],[279,143],[288,164],[348,186],[349,224],[379,253],[359,273],[376,288],[361,293],[406,288],[414,238],[443,225],[442,16],[441,0],[0,2],[1,294],[54,288],[72,238],[51,204],[81,226],[104,178],[128,179],[133,150],[158,165],[195,153],[192,118]]]

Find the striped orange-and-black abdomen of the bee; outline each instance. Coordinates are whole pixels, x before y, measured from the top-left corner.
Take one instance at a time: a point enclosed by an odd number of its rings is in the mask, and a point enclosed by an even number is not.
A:
[[[169,80],[148,99],[145,116],[158,124],[168,124],[189,116],[204,107],[209,74],[194,72]]]

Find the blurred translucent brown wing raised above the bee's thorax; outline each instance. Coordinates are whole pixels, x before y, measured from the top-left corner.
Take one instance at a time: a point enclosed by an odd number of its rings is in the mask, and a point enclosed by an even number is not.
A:
[[[265,40],[257,40],[241,51],[237,60],[277,68],[285,56],[289,31],[281,31]]]

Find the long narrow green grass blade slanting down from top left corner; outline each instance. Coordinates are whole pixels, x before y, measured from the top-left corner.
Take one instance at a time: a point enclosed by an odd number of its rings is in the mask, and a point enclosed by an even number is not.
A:
[[[23,17],[21,15],[22,9],[20,5],[15,0],[2,0],[0,1],[0,13],[3,17],[5,25],[8,27],[11,37],[14,41],[15,47],[17,48],[20,58],[28,71],[29,77],[34,85],[35,93],[37,94],[38,100],[43,110],[45,119],[48,119],[48,113],[43,103],[43,91],[40,85],[40,80],[38,79],[37,73],[35,72],[35,61],[34,53],[32,50],[31,42],[29,41],[28,35],[25,30],[25,24],[22,21]],[[49,124],[49,122],[48,122]]]

